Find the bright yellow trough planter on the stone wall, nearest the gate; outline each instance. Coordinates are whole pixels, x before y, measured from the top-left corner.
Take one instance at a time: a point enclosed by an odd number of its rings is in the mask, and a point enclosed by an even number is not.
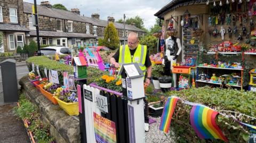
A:
[[[57,96],[53,96],[55,100],[57,100],[60,107],[66,111],[70,116],[78,115],[78,102],[75,103],[66,103],[60,100]]]

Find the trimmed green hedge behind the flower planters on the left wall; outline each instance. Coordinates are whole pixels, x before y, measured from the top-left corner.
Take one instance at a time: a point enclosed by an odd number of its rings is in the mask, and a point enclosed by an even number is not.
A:
[[[27,59],[27,66],[29,71],[32,71],[32,64],[35,64],[35,70],[36,70],[36,65],[39,66],[39,72],[42,77],[46,77],[44,74],[44,68],[50,69],[50,70],[57,70],[59,74],[59,81],[60,84],[63,85],[63,75],[62,72],[67,71],[69,74],[74,74],[73,73],[73,66],[66,65],[66,64],[61,64],[60,62],[50,60],[50,58],[46,56],[33,56],[29,57]],[[37,72],[35,72],[37,74]],[[106,74],[106,72],[102,72],[99,69],[92,68],[92,67],[87,67],[87,84],[89,85],[90,83],[96,81],[97,79],[101,78],[103,74]]]

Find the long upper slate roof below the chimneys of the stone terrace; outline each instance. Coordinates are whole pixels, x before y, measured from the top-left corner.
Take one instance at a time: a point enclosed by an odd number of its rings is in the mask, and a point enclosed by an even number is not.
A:
[[[23,2],[24,13],[32,13],[32,8],[31,8],[32,5],[33,5],[32,3]],[[64,11],[64,10],[54,9],[54,8],[49,9],[46,6],[42,6],[42,5],[37,5],[37,12],[39,15],[49,16],[51,18],[59,18],[59,19],[67,19],[67,20],[73,20],[73,21],[79,21],[79,22],[92,23],[92,25],[94,26],[106,27],[108,25],[107,20],[96,20],[94,18],[81,16],[70,11]],[[115,22],[114,24],[117,29],[124,28],[123,23]],[[132,25],[125,25],[125,29],[146,32]]]

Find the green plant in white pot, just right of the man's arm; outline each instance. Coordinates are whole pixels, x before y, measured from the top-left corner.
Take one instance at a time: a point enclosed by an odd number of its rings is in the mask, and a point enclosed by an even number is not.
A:
[[[153,84],[155,89],[160,89],[160,84],[158,81],[159,77],[162,77],[164,74],[164,65],[160,64],[160,65],[154,65],[152,68],[152,79],[153,79]]]

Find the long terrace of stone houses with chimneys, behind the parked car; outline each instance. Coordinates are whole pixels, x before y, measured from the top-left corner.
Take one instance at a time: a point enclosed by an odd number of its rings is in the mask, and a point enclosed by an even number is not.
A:
[[[23,2],[24,23],[30,31],[27,36],[28,43],[29,40],[36,39],[36,31],[31,16],[32,6],[31,3]],[[41,45],[94,45],[99,38],[103,38],[104,30],[108,24],[108,21],[100,20],[100,15],[97,13],[92,14],[90,18],[80,15],[79,9],[71,9],[71,11],[54,9],[47,1],[37,5],[37,12]],[[139,35],[145,33],[135,26],[127,25],[126,35],[124,35],[122,23],[116,23],[114,18],[109,18],[109,21],[115,24],[120,44],[123,44],[124,36],[127,36],[130,31],[135,31]]]

